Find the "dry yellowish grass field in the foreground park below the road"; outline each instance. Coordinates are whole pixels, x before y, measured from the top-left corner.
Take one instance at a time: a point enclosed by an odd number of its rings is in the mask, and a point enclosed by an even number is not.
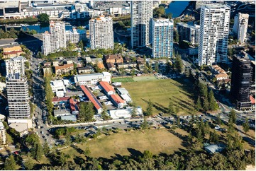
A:
[[[143,151],[151,151],[154,154],[167,153],[171,154],[174,151],[179,151],[179,148],[184,148],[182,140],[174,136],[167,129],[150,129],[145,133],[142,131],[121,131],[118,134],[110,136],[102,136],[101,138],[87,141],[87,144],[77,145],[83,150],[89,146],[91,157],[111,158],[111,156],[119,155],[138,155]],[[69,147],[62,150],[65,154],[69,154],[71,158],[80,155],[74,148]]]

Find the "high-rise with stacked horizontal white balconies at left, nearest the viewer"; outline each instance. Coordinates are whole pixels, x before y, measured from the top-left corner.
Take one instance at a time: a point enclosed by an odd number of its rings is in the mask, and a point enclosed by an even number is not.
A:
[[[30,119],[28,83],[26,76],[20,73],[6,77],[9,119]]]

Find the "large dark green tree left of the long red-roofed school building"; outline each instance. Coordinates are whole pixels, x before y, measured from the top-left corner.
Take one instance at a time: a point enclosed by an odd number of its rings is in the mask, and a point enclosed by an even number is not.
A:
[[[80,102],[79,109],[79,119],[86,122],[91,122],[95,114],[94,105],[92,102]]]

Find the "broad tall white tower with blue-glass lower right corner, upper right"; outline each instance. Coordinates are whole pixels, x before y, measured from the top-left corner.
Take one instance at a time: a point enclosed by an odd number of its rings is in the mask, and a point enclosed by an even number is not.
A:
[[[199,66],[227,62],[229,20],[230,6],[201,6]]]

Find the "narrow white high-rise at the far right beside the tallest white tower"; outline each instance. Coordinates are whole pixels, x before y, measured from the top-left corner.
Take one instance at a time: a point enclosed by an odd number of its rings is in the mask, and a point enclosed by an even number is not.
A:
[[[249,14],[238,13],[235,16],[233,32],[238,35],[238,40],[244,43],[246,40],[247,27],[248,27]]]

